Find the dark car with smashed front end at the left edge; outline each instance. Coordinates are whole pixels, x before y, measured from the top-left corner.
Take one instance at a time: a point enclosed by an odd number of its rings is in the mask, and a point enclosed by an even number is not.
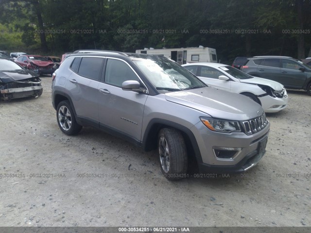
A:
[[[0,100],[39,97],[42,92],[38,74],[10,60],[0,59]]]

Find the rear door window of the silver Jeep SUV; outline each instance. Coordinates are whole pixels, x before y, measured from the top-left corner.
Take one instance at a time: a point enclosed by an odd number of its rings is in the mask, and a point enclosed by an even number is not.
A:
[[[103,70],[104,58],[83,57],[78,74],[89,79],[99,80]]]

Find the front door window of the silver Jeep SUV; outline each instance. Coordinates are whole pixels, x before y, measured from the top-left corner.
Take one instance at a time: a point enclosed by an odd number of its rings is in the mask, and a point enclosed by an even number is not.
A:
[[[105,70],[105,83],[122,86],[124,81],[139,81],[134,71],[124,62],[116,59],[108,59]]]

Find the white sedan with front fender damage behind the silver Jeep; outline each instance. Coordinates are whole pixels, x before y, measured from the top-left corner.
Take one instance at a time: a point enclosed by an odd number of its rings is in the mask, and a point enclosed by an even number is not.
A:
[[[191,63],[182,66],[209,86],[251,98],[266,113],[275,113],[287,107],[287,92],[281,83],[253,77],[220,63]]]

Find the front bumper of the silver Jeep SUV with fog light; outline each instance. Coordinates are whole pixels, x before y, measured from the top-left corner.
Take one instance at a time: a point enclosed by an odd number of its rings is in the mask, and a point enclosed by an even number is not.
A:
[[[200,156],[196,156],[200,173],[244,172],[255,166],[265,154],[269,122],[261,131],[251,135],[212,132],[202,125],[199,122],[192,129],[197,135],[200,151]]]

